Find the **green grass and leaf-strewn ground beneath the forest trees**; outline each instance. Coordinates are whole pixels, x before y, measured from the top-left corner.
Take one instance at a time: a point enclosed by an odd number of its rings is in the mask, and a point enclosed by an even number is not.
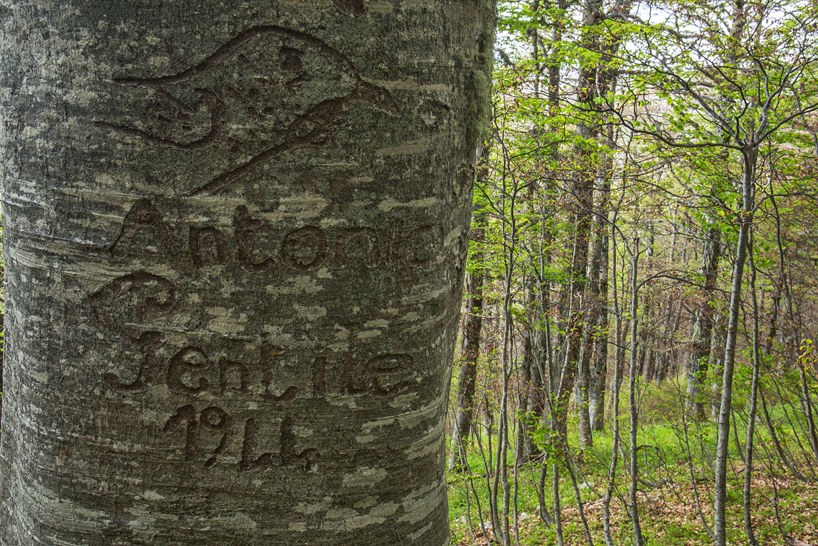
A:
[[[699,490],[703,517],[708,526],[712,526],[712,460],[715,453],[716,427],[704,422],[687,422],[687,442],[685,442],[685,422],[678,402],[678,387],[666,383],[663,386],[649,386],[642,397],[641,426],[638,433],[640,477],[647,483],[641,483],[639,490],[640,523],[647,544],[712,544],[703,523],[694,506],[694,487],[690,477],[690,464],[693,467],[695,485]],[[740,389],[739,389],[740,395]],[[620,408],[627,408],[627,399],[622,400]],[[791,410],[790,410],[791,411]],[[771,408],[777,422],[784,422],[784,412],[780,407]],[[627,448],[628,422],[627,415],[620,416],[620,434]],[[744,448],[744,420],[739,414],[739,440]],[[791,428],[782,425],[782,435],[793,435]],[[571,430],[576,430],[572,423]],[[785,534],[793,535],[807,544],[818,544],[818,483],[804,483],[793,478],[778,461],[777,453],[771,446],[771,439],[766,426],[759,423],[756,427],[756,455],[753,464],[753,528],[759,544],[786,544],[781,537],[778,520],[775,516],[776,499]],[[541,438],[546,436],[545,431]],[[494,440],[496,441],[496,439]],[[542,440],[541,440],[542,441]],[[613,449],[611,423],[608,429],[594,435],[594,446],[580,451],[578,439],[572,435],[569,439],[572,451],[578,460],[578,470],[585,480],[604,494],[607,486],[608,465]],[[803,441],[803,440],[802,440]],[[686,446],[690,444],[689,454]],[[483,439],[483,445],[486,441]],[[792,442],[794,448],[796,444]],[[730,475],[728,479],[728,540],[729,544],[747,544],[744,534],[744,514],[742,511],[742,487],[744,483],[744,463],[736,449],[733,436],[730,437]],[[626,449],[627,453],[627,449]],[[492,453],[492,459],[497,453]],[[488,457],[488,455],[487,455]],[[508,460],[514,460],[510,450]],[[479,517],[474,495],[470,496],[470,516],[472,532],[477,539],[472,539],[467,521],[466,489],[469,480],[477,490],[483,521],[490,521],[488,514],[488,485],[483,461],[474,443],[470,447],[468,472],[450,473],[449,483],[449,519],[452,527],[452,544],[470,545],[486,544],[480,535]],[[800,465],[802,472],[807,472],[807,465]],[[772,476],[771,476],[772,469]],[[490,470],[493,472],[493,470]],[[533,483],[539,475],[538,464],[525,465],[518,469],[518,502],[519,514],[525,514],[519,523],[519,544],[542,545],[555,544],[555,532],[546,526],[538,517],[537,494]],[[584,530],[578,515],[573,487],[567,472],[562,471],[560,482],[560,503],[563,507],[564,536],[566,544],[587,544]],[[509,479],[514,478],[514,469],[510,467]],[[774,484],[775,480],[775,484]],[[619,459],[616,493],[611,503],[612,534],[615,544],[633,544],[631,521],[623,499],[627,498],[628,476]],[[775,487],[774,487],[775,485]],[[513,488],[513,485],[512,485]],[[775,492],[777,490],[777,494]],[[512,501],[514,491],[512,490]],[[499,494],[502,503],[502,493]],[[582,490],[584,504],[591,535],[595,544],[605,544],[602,530],[602,500],[591,488]],[[552,510],[551,469],[546,479],[546,504]],[[512,523],[513,525],[513,523]],[[514,544],[514,541],[512,541]]]

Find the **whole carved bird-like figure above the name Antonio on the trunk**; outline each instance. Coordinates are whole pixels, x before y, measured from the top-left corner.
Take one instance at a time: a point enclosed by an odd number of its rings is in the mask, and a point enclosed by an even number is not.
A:
[[[336,5],[362,13],[357,0]],[[223,150],[227,169],[191,187],[189,196],[218,192],[285,153],[328,147],[353,106],[398,115],[389,92],[363,79],[343,53],[276,25],[246,29],[174,74],[114,81],[150,92],[145,97],[156,113],[101,126],[156,147]]]

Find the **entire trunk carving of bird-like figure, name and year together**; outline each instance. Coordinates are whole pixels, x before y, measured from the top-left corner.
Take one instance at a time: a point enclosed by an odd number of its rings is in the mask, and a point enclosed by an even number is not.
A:
[[[364,13],[359,0],[333,2],[351,16]],[[355,396],[380,404],[375,399],[398,395],[417,381],[411,355],[361,350],[357,325],[344,326],[350,333],[343,350],[326,349],[326,341],[305,350],[303,341],[287,341],[290,335],[298,339],[293,332],[240,341],[224,334],[231,339],[227,344],[200,337],[179,341],[187,338],[174,327],[173,316],[185,317],[191,332],[210,320],[192,312],[202,301],[198,295],[180,292],[186,283],[200,289],[222,273],[275,281],[280,273],[327,278],[328,271],[344,268],[388,269],[394,273],[384,275],[389,284],[438,266],[443,229],[399,220],[388,226],[316,222],[282,229],[268,221],[272,214],[248,205],[228,210],[227,222],[186,219],[182,211],[196,196],[263,178],[264,167],[280,156],[331,147],[338,129],[357,119],[348,115],[351,109],[399,115],[397,102],[321,39],[276,25],[246,29],[173,74],[142,73],[114,82],[133,93],[133,100],[146,101],[153,113],[136,109],[139,117],[128,117],[123,109],[119,120],[99,125],[129,142],[168,150],[192,169],[182,178],[190,182],[175,198],[178,205],[138,199],[107,249],[119,266],[161,264],[160,272],[169,266],[168,276],[179,280],[137,271],[88,296],[94,323],[128,345],[127,358],[112,363],[115,372],[102,374],[103,386],[114,397],[147,393],[148,399],[172,400],[175,409],[161,417],[160,436],[182,453],[183,462],[235,465],[240,472],[316,471],[321,453],[299,436],[296,422],[304,400]],[[219,166],[205,172],[199,165]],[[330,191],[342,192],[339,184],[330,183]],[[344,212],[349,202],[338,205]],[[335,210],[335,199],[327,207],[322,214]]]

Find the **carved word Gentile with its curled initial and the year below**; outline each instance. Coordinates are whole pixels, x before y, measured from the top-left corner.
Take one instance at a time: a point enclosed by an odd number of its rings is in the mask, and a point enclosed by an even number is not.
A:
[[[141,353],[138,369],[125,379],[117,373],[103,376],[104,384],[121,395],[134,395],[154,386],[163,386],[173,395],[190,400],[180,405],[164,423],[169,435],[185,432],[182,449],[186,461],[196,460],[200,453],[200,434],[220,433],[217,447],[205,460],[213,467],[227,452],[236,429],[236,419],[218,404],[214,397],[226,401],[244,395],[269,404],[281,415],[279,453],[256,453],[258,424],[254,417],[244,420],[241,455],[237,463],[241,472],[271,470],[276,467],[317,469],[321,454],[317,449],[296,449],[292,417],[285,412],[296,399],[324,399],[327,396],[387,397],[406,390],[413,359],[408,354],[380,354],[361,359],[354,341],[348,351],[330,355],[326,352],[308,356],[288,351],[268,341],[258,343],[253,362],[231,354],[213,358],[204,349],[187,345],[173,349],[164,333],[142,332],[137,326],[144,321],[169,318],[179,299],[176,285],[169,279],[146,272],[128,273],[108,282],[88,297],[92,319],[98,326],[128,341]],[[351,334],[353,339],[353,335]],[[165,356],[162,356],[162,355]],[[168,356],[169,355],[169,356]],[[285,359],[298,359],[289,369]],[[305,360],[305,361],[304,361]],[[295,370],[295,371],[293,371]],[[196,400],[207,400],[204,408]]]

